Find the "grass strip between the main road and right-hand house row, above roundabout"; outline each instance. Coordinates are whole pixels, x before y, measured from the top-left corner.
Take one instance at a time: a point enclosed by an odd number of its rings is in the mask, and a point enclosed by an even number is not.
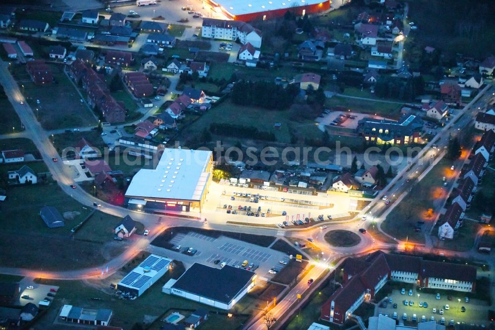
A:
[[[435,220],[437,212],[440,212],[439,209],[434,209],[433,216],[427,215],[428,209],[433,208],[433,200],[446,198],[442,177],[453,175],[451,163],[443,158],[421,181],[411,182],[412,190],[383,221],[382,230],[400,240],[424,243],[424,233],[413,229],[417,221],[431,222]]]

